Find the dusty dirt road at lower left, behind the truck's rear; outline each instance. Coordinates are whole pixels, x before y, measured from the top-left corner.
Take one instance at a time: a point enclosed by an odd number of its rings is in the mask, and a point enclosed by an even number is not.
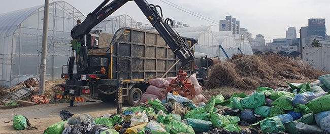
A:
[[[100,117],[107,113],[116,113],[116,103],[96,102],[75,102],[77,107],[69,108],[68,103],[36,105],[31,107],[19,107],[15,109],[0,110],[0,133],[43,133],[44,130],[61,121],[59,112],[68,110],[72,114],[89,114],[92,117]],[[123,109],[128,106],[123,105]],[[14,115],[23,115],[29,119],[31,126],[38,127],[38,130],[16,130],[13,127]],[[6,123],[8,122],[8,123]]]

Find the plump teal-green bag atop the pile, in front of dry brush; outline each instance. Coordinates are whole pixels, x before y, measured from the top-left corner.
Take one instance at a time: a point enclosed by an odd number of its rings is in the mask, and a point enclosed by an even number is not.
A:
[[[254,92],[251,96],[241,99],[241,105],[245,109],[255,109],[265,103],[265,94],[262,92]]]

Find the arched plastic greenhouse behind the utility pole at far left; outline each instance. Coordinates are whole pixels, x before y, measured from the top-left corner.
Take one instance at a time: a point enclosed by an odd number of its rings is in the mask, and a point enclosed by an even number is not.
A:
[[[0,86],[9,88],[39,75],[44,6],[0,14]],[[70,4],[50,3],[47,43],[47,79],[60,78],[67,64],[70,31],[84,16]]]

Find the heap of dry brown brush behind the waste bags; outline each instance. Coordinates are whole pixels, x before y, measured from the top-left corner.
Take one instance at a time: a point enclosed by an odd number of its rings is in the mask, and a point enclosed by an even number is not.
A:
[[[286,79],[317,79],[321,71],[302,59],[294,59],[280,54],[234,55],[226,62],[211,68],[207,88],[229,86],[256,89],[258,86],[277,88],[285,85]]]

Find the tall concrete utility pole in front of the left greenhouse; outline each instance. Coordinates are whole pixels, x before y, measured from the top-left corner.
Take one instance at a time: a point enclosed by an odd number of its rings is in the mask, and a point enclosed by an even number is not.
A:
[[[39,94],[45,94],[49,0],[45,0]]]

